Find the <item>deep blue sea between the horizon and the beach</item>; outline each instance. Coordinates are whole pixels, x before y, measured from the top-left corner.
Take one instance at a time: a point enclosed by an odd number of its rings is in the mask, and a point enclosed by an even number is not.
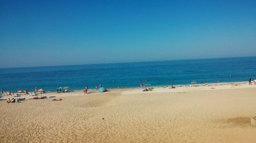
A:
[[[230,78],[230,75],[233,76]],[[0,88],[15,92],[57,87],[89,89],[248,81],[256,78],[256,57],[0,69]]]

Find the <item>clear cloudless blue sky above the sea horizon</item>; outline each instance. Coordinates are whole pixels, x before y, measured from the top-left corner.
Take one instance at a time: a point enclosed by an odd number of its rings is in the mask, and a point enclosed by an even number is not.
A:
[[[256,1],[0,1],[0,68],[256,55]]]

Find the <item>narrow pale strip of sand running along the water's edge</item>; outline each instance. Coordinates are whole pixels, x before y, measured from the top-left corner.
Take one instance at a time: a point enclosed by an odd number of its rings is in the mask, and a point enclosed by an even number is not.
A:
[[[254,88],[256,85],[251,84],[249,85],[247,81],[242,81],[242,82],[222,82],[222,83],[209,83],[208,85],[205,84],[186,84],[186,85],[174,85],[174,89],[171,89],[168,86],[156,86],[156,87],[150,87],[153,88],[153,91],[146,91],[143,92],[141,88],[113,88],[113,89],[108,89],[110,92],[104,92],[104,93],[99,93],[98,90],[93,90],[89,89],[88,93],[89,94],[84,94],[83,90],[74,90],[71,92],[62,92],[62,93],[56,93],[56,92],[46,92],[43,94],[37,94],[36,96],[47,96],[47,98],[58,98],[58,97],[68,97],[68,96],[82,96],[82,95],[97,95],[97,94],[105,94],[105,93],[118,93],[121,95],[127,95],[127,94],[145,94],[145,93],[185,93],[189,91],[203,91],[203,90],[221,90],[221,89],[232,89],[232,88]],[[230,87],[231,86],[231,87]],[[149,87],[146,87],[149,88]],[[33,99],[33,97],[36,96],[30,96],[28,94],[22,94],[18,97],[13,97],[10,95],[3,96],[0,99],[0,102],[6,101],[8,98],[26,98],[27,99]]]

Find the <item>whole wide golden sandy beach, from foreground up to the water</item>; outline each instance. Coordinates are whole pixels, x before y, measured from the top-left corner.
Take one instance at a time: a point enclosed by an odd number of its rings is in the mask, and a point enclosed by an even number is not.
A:
[[[0,142],[256,142],[256,85],[89,93],[1,98]]]

